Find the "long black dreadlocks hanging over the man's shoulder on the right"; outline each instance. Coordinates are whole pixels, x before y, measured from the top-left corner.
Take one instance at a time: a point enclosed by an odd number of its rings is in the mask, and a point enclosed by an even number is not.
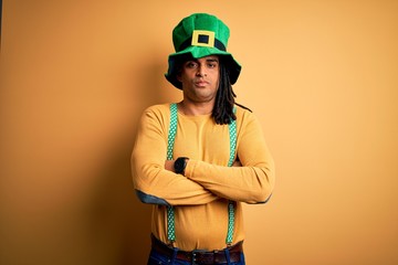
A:
[[[211,117],[214,119],[216,124],[227,125],[237,119],[237,115],[233,112],[233,105],[238,105],[251,112],[245,106],[235,103],[235,97],[237,95],[232,89],[226,62],[220,56],[219,87],[216,94],[214,107],[211,114]]]

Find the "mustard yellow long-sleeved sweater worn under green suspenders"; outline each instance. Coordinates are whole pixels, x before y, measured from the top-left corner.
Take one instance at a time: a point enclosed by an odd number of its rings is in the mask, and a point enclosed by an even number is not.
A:
[[[174,158],[189,157],[185,176],[165,170],[169,104],[147,108],[132,156],[133,179],[143,202],[154,204],[151,232],[167,243],[166,206],[175,206],[176,243],[184,251],[226,247],[228,201],[237,201],[233,243],[244,240],[242,202],[262,203],[274,187],[274,162],[255,116],[237,106],[237,157],[227,167],[228,125],[210,115],[178,113]]]

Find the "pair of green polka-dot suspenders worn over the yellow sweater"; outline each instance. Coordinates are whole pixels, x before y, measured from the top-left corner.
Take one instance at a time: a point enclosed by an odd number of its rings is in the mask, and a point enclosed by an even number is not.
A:
[[[234,109],[235,110],[235,109]],[[229,125],[229,135],[230,135],[230,158],[228,166],[232,167],[234,161],[234,153],[237,149],[237,121],[232,120]],[[168,132],[168,142],[167,142],[167,160],[172,159],[172,148],[176,139],[177,132],[177,104],[170,104],[170,127]],[[231,245],[233,239],[233,226],[234,226],[234,202],[229,201],[228,204],[228,232],[226,243]],[[175,231],[175,213],[172,206],[167,206],[167,239],[170,243],[176,241],[176,231]]]

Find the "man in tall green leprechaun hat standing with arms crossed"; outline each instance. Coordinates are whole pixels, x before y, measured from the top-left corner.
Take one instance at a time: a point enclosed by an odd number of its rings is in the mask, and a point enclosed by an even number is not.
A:
[[[142,116],[132,165],[138,198],[154,204],[148,264],[244,264],[241,203],[272,193],[274,163],[261,126],[234,103],[241,66],[228,39],[213,15],[181,20],[166,78],[184,98]]]

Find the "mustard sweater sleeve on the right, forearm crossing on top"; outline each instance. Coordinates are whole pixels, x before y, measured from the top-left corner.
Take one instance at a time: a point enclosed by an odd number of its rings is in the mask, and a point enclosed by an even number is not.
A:
[[[242,167],[189,160],[186,176],[218,197],[247,203],[263,203],[274,188],[274,161],[261,125],[252,113],[244,112],[241,117],[237,145],[237,155]]]

